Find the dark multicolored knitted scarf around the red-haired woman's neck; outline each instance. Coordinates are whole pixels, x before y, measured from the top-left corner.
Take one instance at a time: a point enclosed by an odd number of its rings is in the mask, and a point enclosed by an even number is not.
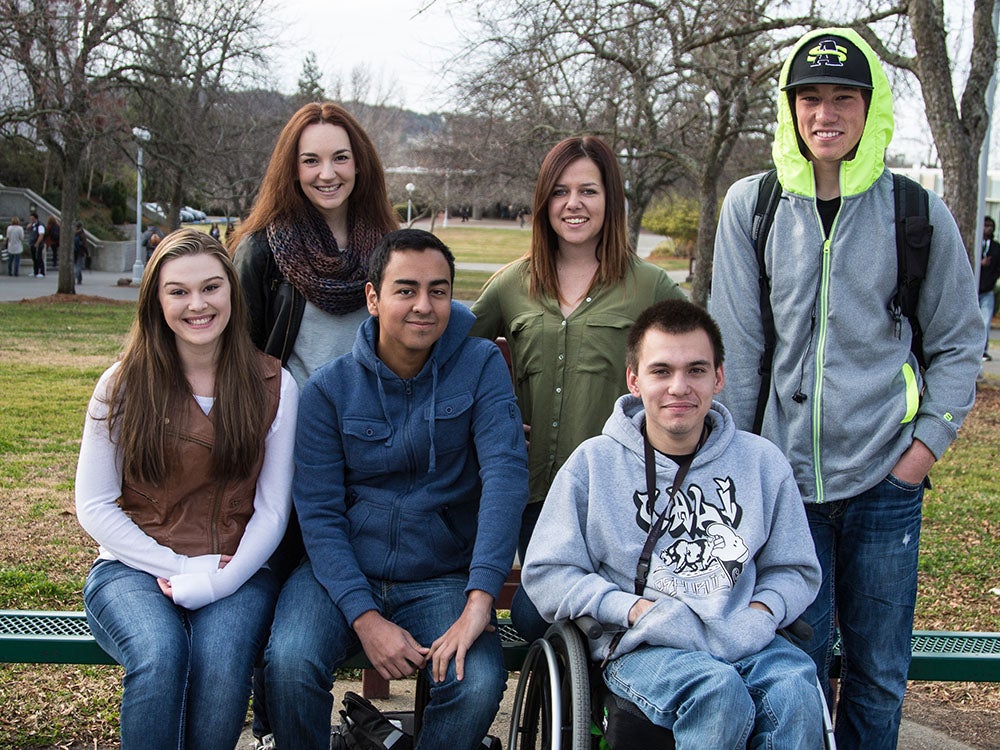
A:
[[[381,239],[378,229],[355,218],[348,247],[341,252],[330,227],[313,210],[300,223],[275,222],[267,227],[267,241],[281,273],[307,300],[333,315],[364,307],[368,258]]]

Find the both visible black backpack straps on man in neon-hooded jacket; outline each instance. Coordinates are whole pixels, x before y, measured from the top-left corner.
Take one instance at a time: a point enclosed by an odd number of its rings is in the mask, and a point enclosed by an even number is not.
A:
[[[902,335],[903,316],[913,332],[910,349],[921,369],[926,368],[923,349],[923,331],[917,321],[917,302],[920,284],[927,274],[927,260],[931,251],[934,227],[929,221],[927,191],[917,182],[903,175],[892,175],[893,195],[896,206],[896,289],[889,299],[888,309],[896,325],[896,336]],[[771,309],[771,280],[764,267],[764,245],[774,223],[774,213],[781,199],[781,183],[777,170],[770,170],[757,188],[757,205],[754,208],[750,239],[757,257],[757,281],[760,289],[760,317],[764,328],[764,351],[760,358],[760,390],[757,393],[757,410],[754,413],[752,432],[760,434],[764,424],[764,409],[771,392],[771,369],[774,361],[775,331],[774,312]]]

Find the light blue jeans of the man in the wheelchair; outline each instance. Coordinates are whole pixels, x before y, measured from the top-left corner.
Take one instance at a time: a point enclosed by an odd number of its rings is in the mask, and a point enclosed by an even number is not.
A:
[[[677,747],[823,745],[815,668],[784,638],[733,663],[705,651],[644,646],[608,664],[604,682],[654,724],[673,731]]]

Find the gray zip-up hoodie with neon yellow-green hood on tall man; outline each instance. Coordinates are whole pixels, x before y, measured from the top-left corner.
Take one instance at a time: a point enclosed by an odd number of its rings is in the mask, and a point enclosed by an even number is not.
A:
[[[893,131],[892,94],[868,45],[850,29],[835,31],[865,51],[874,86],[857,153],[840,166],[840,210],[824,237],[812,164],[799,149],[781,93],[772,154],[784,192],[764,258],[777,343],[761,434],[791,461],[806,502],[870,489],[914,439],[940,458],[972,408],[983,348],[972,270],[954,219],[933,193],[934,235],[917,308],[928,362],[922,376],[910,352],[910,326],[905,319],[897,325],[889,312],[896,231],[892,175],[883,159]],[[807,34],[799,45],[824,33]],[[788,59],[794,57],[795,50]],[[787,76],[788,64],[781,85]],[[753,423],[764,346],[750,240],[760,179],[740,180],[723,203],[710,303],[726,342],[719,398],[741,429]]]

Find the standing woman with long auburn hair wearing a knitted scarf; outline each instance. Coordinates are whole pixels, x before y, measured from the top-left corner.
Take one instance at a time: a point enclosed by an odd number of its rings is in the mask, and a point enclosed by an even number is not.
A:
[[[300,387],[350,351],[368,317],[368,257],[398,224],[382,162],[358,121],[332,102],[292,115],[231,245],[251,337]]]

